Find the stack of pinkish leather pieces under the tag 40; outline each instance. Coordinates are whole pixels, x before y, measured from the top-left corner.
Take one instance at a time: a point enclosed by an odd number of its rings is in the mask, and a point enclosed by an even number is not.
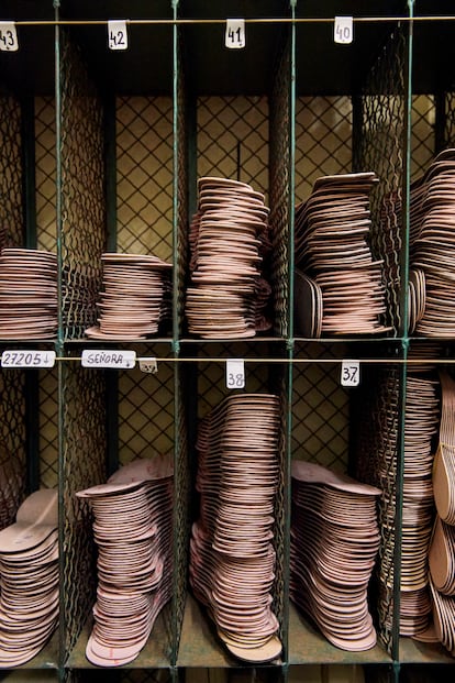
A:
[[[384,263],[374,258],[369,245],[369,194],[376,183],[373,172],[324,176],[296,208],[296,266],[315,285],[314,316],[322,312],[322,335],[390,330],[384,324]],[[306,305],[298,294],[296,289],[296,312]],[[312,327],[319,331],[317,322]]]

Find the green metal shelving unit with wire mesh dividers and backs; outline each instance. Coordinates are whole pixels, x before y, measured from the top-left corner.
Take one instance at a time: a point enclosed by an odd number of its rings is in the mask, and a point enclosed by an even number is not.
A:
[[[400,670],[407,680],[414,664],[440,671],[453,662],[445,650],[399,637],[407,359],[426,340],[407,332],[407,212],[403,224],[385,227],[380,209],[390,192],[407,207],[411,179],[454,143],[455,19],[430,21],[446,7],[428,0],[378,0],[368,11],[356,0],[266,0],[260,13],[252,0],[158,0],[153,8],[115,0],[110,16],[88,0],[55,4],[5,0],[0,10],[0,20],[18,22],[20,43],[16,53],[0,52],[0,224],[8,245],[55,251],[59,264],[58,338],[40,342],[56,351],[55,368],[0,371],[0,467],[12,463],[8,476],[19,482],[12,503],[0,492],[0,519],[11,519],[38,486],[57,486],[60,496],[60,628],[24,669],[52,669],[62,681],[102,674],[148,682],[238,667],[188,591],[187,568],[197,421],[229,393],[225,361],[242,357],[245,390],[277,393],[282,426],[274,609],[284,652],[257,675],[292,681],[313,664],[365,665],[366,680],[398,683]],[[355,19],[354,42],[336,45],[333,18],[346,14]],[[226,16],[249,20],[245,48],[224,46]],[[131,20],[127,51],[108,49],[107,20],[114,18]],[[35,21],[23,25],[27,20]],[[295,207],[317,177],[352,169],[380,178],[373,249],[386,263],[392,330],[381,339],[299,338]],[[263,338],[208,342],[188,334],[187,228],[204,175],[249,183],[270,207],[274,326]],[[156,357],[156,375],[80,366],[82,349],[100,348],[84,330],[96,321],[104,251],[173,263],[171,323],[144,342],[101,345]],[[2,341],[0,350],[31,343]],[[448,342],[445,353],[452,357]],[[358,389],[340,385],[346,357],[360,361]],[[393,428],[384,433],[391,399]],[[393,458],[379,519],[395,515],[396,526],[393,533],[382,528],[377,575],[389,581],[382,601],[371,598],[378,645],[345,652],[289,603],[290,460],[375,483],[385,443]],[[89,510],[75,492],[156,452],[173,453],[175,464],[173,601],[137,660],[93,670],[85,645],[96,551]]]

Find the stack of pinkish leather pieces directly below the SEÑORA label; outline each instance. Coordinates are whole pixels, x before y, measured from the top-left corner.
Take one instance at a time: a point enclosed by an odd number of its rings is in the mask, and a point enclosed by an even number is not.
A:
[[[171,461],[134,460],[77,496],[90,504],[99,551],[86,657],[119,667],[137,657],[171,596]]]

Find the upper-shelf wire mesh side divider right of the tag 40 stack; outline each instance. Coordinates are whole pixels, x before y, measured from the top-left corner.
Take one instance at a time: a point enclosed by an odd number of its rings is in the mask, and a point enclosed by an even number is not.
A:
[[[401,227],[395,212],[381,220],[381,209],[385,197],[401,196],[403,185],[406,54],[404,33],[396,29],[370,70],[359,99],[362,131],[357,135],[358,148],[354,150],[354,169],[371,169],[380,179],[370,196],[371,249],[376,258],[384,258],[388,324],[396,335],[402,327]]]

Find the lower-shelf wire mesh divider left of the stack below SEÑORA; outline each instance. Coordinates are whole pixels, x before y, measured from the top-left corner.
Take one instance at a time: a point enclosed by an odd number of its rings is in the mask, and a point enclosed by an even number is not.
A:
[[[96,552],[88,505],[75,494],[106,482],[106,400],[102,371],[79,362],[60,366],[63,472],[63,594],[65,650],[78,638],[95,602]]]

